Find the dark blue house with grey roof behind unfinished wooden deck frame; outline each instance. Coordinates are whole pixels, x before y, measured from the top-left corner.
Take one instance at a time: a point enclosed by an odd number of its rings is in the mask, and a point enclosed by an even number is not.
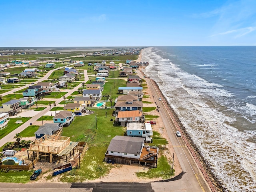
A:
[[[60,126],[58,123],[46,123],[43,126],[40,126],[35,132],[36,139],[41,138],[44,135],[54,135],[61,134],[63,126]]]

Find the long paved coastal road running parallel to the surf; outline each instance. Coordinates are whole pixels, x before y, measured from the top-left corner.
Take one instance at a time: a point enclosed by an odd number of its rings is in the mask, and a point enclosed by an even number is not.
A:
[[[139,70],[138,75],[143,77],[143,74]],[[170,142],[172,143],[182,171],[185,172],[182,178],[176,181],[152,182],[152,189],[154,189],[156,192],[211,192],[211,188],[206,182],[204,175],[198,168],[184,140],[182,137],[176,136],[175,133],[178,128],[176,127],[172,116],[170,116],[166,106],[164,105],[164,101],[158,100],[160,94],[157,91],[157,88],[154,86],[154,84],[152,84],[152,81],[149,78],[144,78],[144,80],[146,80],[148,87],[151,89],[152,95],[154,96],[154,101],[156,102],[157,106],[160,107],[159,113],[165,125],[166,132]]]

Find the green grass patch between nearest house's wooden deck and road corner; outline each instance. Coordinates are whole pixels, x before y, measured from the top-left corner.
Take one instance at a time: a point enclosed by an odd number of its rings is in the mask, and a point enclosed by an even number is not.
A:
[[[151,168],[148,172],[137,172],[136,176],[138,178],[158,178],[162,177],[162,179],[169,179],[173,176],[170,162],[165,156],[158,157],[157,160],[157,168]]]

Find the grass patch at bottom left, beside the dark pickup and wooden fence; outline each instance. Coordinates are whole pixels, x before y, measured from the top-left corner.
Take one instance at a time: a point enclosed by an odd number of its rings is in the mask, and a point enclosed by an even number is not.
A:
[[[3,183],[27,183],[34,170],[30,171],[16,171],[9,170],[8,173],[0,172],[0,182]]]

